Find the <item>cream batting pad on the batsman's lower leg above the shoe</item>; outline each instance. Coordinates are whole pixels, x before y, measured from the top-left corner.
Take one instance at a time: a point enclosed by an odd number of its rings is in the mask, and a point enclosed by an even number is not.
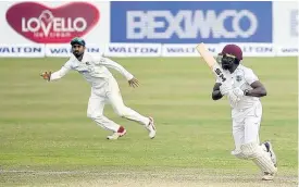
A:
[[[274,166],[269,154],[262,150],[257,142],[250,142],[241,146],[242,153],[251,159],[263,172],[274,174],[277,167]]]

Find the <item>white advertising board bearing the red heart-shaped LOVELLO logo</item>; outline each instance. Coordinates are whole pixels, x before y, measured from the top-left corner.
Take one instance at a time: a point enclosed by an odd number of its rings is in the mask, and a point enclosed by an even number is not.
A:
[[[110,41],[110,2],[1,1],[2,43],[70,43],[73,37]]]

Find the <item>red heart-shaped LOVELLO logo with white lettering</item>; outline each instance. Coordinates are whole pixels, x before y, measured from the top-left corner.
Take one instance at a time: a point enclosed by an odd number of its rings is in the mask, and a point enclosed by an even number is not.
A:
[[[98,9],[86,2],[73,2],[59,8],[23,2],[7,12],[7,21],[15,32],[41,43],[63,43],[73,37],[84,36],[99,18]]]

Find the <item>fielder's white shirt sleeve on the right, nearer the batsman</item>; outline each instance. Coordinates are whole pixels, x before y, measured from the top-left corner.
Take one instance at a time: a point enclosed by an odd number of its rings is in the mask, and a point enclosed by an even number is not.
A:
[[[126,71],[122,65],[112,61],[111,59],[100,58],[96,60],[96,63],[120,72],[124,77],[126,77],[127,80],[134,78],[134,76],[128,71]]]

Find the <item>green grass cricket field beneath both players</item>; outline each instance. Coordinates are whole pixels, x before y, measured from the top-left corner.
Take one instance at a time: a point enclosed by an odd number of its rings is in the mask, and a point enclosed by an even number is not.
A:
[[[87,119],[90,88],[76,72],[55,83],[39,73],[66,59],[0,59],[0,186],[297,186],[298,78],[296,58],[249,58],[266,86],[261,140],[272,140],[278,175],[261,182],[234,149],[227,100],[211,100],[213,74],[198,58],[113,59],[140,82],[116,72],[126,105],[155,120],[149,139],[138,124],[116,141]]]

